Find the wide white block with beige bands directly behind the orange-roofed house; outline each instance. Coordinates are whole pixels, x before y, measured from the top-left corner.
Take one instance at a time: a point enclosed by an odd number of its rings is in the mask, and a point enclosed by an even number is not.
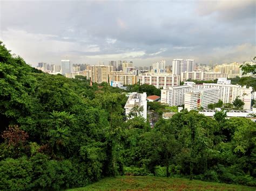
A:
[[[156,88],[179,86],[180,76],[167,73],[139,74],[140,85],[149,84]]]

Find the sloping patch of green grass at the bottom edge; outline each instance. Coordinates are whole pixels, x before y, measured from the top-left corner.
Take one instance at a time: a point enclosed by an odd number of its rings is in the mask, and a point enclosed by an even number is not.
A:
[[[118,176],[104,178],[83,188],[70,190],[256,190],[255,187],[227,185],[181,178],[156,176]]]

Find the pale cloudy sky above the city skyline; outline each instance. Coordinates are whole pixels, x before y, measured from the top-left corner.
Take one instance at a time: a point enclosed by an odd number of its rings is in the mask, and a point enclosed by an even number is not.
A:
[[[2,1],[0,40],[33,66],[249,61],[256,1]]]

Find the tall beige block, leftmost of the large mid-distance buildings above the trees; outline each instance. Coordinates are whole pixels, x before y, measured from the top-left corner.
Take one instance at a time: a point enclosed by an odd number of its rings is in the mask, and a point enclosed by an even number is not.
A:
[[[109,83],[109,74],[112,72],[113,66],[91,66],[91,80],[92,82],[102,83],[107,82]]]

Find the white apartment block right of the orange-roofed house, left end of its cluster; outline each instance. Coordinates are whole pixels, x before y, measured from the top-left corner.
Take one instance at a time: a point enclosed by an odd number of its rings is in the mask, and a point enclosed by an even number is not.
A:
[[[167,103],[170,106],[184,104],[185,93],[193,91],[193,86],[176,86],[161,89],[161,103]]]

